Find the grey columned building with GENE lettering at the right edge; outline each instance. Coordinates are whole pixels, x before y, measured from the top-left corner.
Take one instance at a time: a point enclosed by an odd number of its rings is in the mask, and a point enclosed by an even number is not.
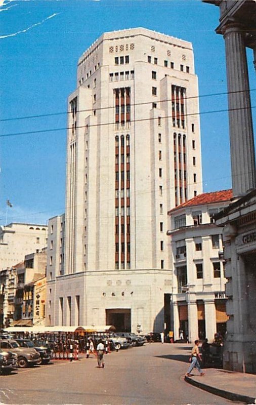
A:
[[[246,48],[256,60],[256,1],[204,0],[220,7],[225,39],[234,201],[217,217],[224,227],[228,297],[224,368],[256,373],[256,170]]]

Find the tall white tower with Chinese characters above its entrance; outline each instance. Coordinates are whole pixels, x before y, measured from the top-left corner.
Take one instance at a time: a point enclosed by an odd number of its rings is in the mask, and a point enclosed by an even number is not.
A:
[[[191,43],[144,28],[104,33],[78,61],[68,112],[48,321],[162,330],[172,278],[166,212],[201,192]]]

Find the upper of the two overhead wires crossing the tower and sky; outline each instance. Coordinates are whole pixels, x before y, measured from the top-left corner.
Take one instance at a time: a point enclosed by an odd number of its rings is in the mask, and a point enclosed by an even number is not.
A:
[[[233,93],[244,93],[244,92],[253,92],[256,89],[249,89],[249,90],[237,90],[233,92],[223,92],[223,93],[212,93],[212,94],[202,94],[201,96],[190,96],[190,97],[184,97],[183,100],[189,100],[193,98],[203,98],[203,97],[215,97],[215,96],[223,96],[225,94],[233,94]],[[155,103],[165,103],[168,101],[172,101],[172,99],[166,99],[166,100],[156,100],[154,101]],[[145,101],[143,103],[134,103],[130,104],[130,106],[136,106],[136,105],[146,105],[146,104],[152,104],[152,101]],[[100,108],[89,108],[85,110],[77,110],[76,112],[89,112],[92,110],[100,111],[100,110],[107,110],[110,108],[115,108],[115,106],[111,107],[100,107]],[[38,114],[38,115],[27,115],[27,116],[21,116],[21,117],[13,117],[13,118],[3,118],[0,119],[0,121],[14,121],[14,120],[21,120],[21,119],[30,119],[30,118],[42,118],[42,117],[47,117],[47,116],[56,116],[56,115],[64,115],[64,114],[72,114],[72,111],[65,111],[65,112],[52,112],[49,114]]]

